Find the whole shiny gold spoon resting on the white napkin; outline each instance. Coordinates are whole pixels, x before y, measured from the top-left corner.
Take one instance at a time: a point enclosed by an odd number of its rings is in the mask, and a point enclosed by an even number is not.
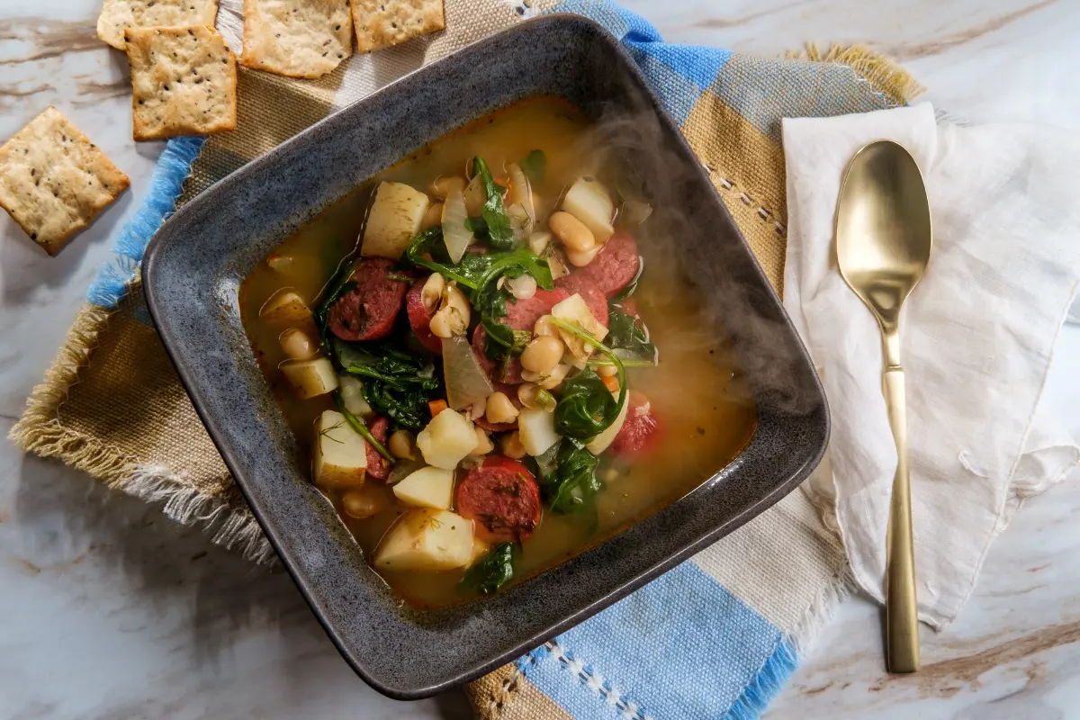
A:
[[[890,140],[862,148],[845,171],[836,203],[836,257],[843,281],[877,318],[885,345],[882,392],[896,441],[896,474],[886,541],[886,652],[890,673],[919,669],[900,308],[922,279],[930,246],[930,203],[915,159]]]

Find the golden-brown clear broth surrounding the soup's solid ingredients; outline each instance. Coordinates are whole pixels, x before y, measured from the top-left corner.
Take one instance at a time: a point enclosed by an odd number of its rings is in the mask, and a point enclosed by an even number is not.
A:
[[[534,185],[538,215],[554,207],[563,189],[592,172],[581,147],[591,124],[575,108],[556,98],[536,98],[482,118],[414,153],[324,212],[283,242],[244,280],[241,314],[248,339],[282,411],[305,451],[313,440],[312,424],[334,407],[328,395],[297,400],[278,366],[285,359],[278,336],[282,327],[259,317],[271,295],[291,287],[311,308],[341,260],[359,244],[364,215],[375,185],[381,180],[427,189],[441,175],[461,175],[467,159],[483,155],[497,175],[509,162],[531,150],[546,155],[546,177]],[[651,232],[650,232],[651,230]],[[645,272],[634,298],[660,352],[656,368],[629,370],[632,390],[644,393],[661,423],[653,451],[632,460],[602,456],[598,475],[607,487],[596,511],[577,515],[544,512],[515,562],[514,582],[571,557],[611,536],[621,528],[686,494],[728,464],[753,432],[755,411],[723,331],[706,325],[696,295],[679,277],[670,254],[676,244],[648,222],[634,231]],[[271,267],[273,266],[273,267]],[[384,495],[387,506],[374,517],[341,514],[369,557],[390,525],[408,507],[377,480],[367,486]],[[340,511],[340,499],[330,493]],[[387,572],[387,582],[408,602],[438,608],[473,599],[457,590],[462,570]]]

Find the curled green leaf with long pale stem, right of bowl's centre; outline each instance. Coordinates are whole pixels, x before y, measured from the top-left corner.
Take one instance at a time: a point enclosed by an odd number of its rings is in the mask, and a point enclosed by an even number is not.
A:
[[[619,371],[618,400],[611,397],[611,392],[599,376],[588,368],[563,385],[558,405],[555,406],[555,432],[585,444],[607,430],[622,412],[622,406],[626,404],[626,369],[610,348],[577,325],[558,317],[553,317],[551,322],[603,352]]]

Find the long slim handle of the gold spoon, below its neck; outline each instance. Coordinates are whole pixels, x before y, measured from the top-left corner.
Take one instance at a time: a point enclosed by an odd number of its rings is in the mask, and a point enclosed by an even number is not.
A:
[[[889,364],[885,371],[889,425],[896,441],[896,474],[889,504],[886,545],[886,643],[890,673],[919,669],[919,617],[915,596],[915,547],[912,541],[912,484],[907,475],[907,412],[904,368]]]

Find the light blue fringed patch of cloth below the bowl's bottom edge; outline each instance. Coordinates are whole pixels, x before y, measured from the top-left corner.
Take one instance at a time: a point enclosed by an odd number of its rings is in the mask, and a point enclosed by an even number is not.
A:
[[[795,666],[781,631],[693,562],[518,665],[578,720],[742,720],[764,709]]]

